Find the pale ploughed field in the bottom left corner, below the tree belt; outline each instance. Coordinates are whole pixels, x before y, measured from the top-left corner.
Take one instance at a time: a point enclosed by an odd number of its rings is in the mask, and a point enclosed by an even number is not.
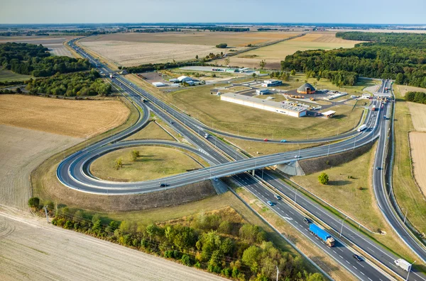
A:
[[[195,268],[60,229],[44,219],[0,213],[0,279],[225,280]],[[7,258],[6,258],[7,257]]]

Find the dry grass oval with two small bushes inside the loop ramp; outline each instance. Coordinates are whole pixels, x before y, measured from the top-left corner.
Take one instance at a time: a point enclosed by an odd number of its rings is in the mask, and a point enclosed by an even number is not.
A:
[[[136,161],[131,159],[131,151],[139,151]],[[116,159],[122,159],[123,167],[116,170]],[[202,168],[190,156],[169,147],[132,147],[120,149],[99,157],[90,166],[94,176],[114,181],[142,181],[164,178],[193,169]]]

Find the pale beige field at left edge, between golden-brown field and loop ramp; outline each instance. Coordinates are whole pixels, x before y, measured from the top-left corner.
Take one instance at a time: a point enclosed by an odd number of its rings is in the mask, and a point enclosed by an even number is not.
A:
[[[0,125],[0,202],[25,208],[30,198],[29,175],[42,161],[82,139]],[[7,159],[7,160],[6,160]]]

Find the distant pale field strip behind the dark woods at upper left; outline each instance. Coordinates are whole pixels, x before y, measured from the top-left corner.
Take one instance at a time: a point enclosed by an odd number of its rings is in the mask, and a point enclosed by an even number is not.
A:
[[[4,42],[29,43],[35,45],[43,45],[49,48],[52,55],[73,57],[71,52],[63,45],[63,42],[72,39],[72,36],[16,36],[16,37],[0,37],[0,44]]]

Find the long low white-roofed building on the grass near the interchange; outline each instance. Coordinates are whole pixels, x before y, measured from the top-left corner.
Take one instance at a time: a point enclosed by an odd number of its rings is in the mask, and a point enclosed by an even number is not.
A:
[[[288,105],[285,103],[278,103],[276,101],[263,100],[261,98],[253,98],[251,96],[243,96],[238,93],[224,93],[220,96],[222,101],[229,101],[230,103],[238,103],[240,105],[250,106],[263,110],[272,111],[293,117],[302,117],[306,115],[306,108],[302,106]]]

